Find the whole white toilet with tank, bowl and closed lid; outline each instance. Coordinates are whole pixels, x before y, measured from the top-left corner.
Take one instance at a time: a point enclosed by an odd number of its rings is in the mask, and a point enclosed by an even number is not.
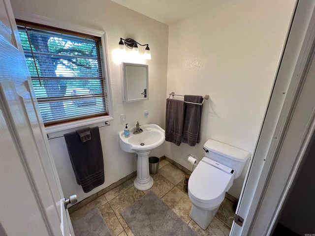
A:
[[[188,195],[192,203],[189,216],[205,230],[251,154],[211,139],[203,147],[205,157],[189,178]]]

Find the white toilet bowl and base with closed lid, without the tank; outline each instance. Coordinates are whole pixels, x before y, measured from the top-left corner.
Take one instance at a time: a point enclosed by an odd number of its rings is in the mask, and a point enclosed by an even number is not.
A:
[[[192,172],[188,195],[192,203],[189,213],[203,230],[215,217],[227,192],[233,184],[234,170],[204,157]]]

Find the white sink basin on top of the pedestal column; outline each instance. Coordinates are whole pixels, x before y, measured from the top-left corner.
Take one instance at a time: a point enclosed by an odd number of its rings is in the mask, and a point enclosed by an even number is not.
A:
[[[135,127],[130,129],[130,136],[125,137],[124,131],[119,134],[119,145],[126,152],[151,151],[165,140],[165,131],[157,124],[141,125],[142,133],[133,134]]]

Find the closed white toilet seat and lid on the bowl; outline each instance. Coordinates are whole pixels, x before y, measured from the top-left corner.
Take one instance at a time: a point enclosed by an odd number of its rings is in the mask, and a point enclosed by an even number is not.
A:
[[[225,192],[233,184],[233,173],[233,170],[220,163],[207,157],[202,158],[189,177],[189,197],[201,206],[220,205]]]

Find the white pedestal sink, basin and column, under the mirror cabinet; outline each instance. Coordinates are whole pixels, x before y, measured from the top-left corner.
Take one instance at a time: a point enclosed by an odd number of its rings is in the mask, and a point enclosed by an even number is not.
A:
[[[130,136],[125,137],[124,131],[119,134],[119,145],[126,152],[135,152],[137,160],[137,178],[133,185],[139,190],[148,190],[153,186],[153,178],[149,173],[149,153],[165,141],[165,131],[157,124],[141,125],[142,133],[133,134],[135,127],[130,129]]]

